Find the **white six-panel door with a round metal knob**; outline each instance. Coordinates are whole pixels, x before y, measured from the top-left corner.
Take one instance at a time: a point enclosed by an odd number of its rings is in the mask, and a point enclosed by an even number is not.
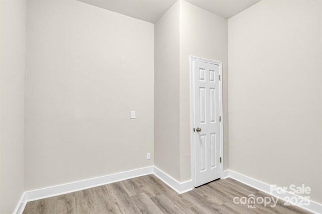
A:
[[[195,186],[220,178],[219,65],[193,59]]]

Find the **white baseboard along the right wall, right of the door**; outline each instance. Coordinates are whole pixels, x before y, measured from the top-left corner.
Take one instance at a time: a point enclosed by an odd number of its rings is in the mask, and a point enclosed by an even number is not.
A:
[[[271,193],[271,185],[270,184],[264,183],[262,181],[256,180],[254,178],[248,177],[248,176],[240,174],[238,172],[234,172],[232,170],[225,170],[224,175],[225,175],[225,177],[230,177],[230,178],[237,180],[241,183],[245,183],[248,186],[254,187],[262,192],[270,194],[270,195],[277,197],[277,198],[284,200],[284,201],[285,201],[284,197],[302,198],[299,195],[295,195],[295,194],[287,192],[285,190],[283,190],[283,192],[281,192],[281,193],[278,193],[276,191]],[[309,205],[298,205],[298,206],[307,210],[307,211],[313,212],[313,213],[322,213],[322,204],[317,203],[312,200],[308,200],[308,199],[304,199],[304,202],[309,202]],[[293,205],[297,205],[297,204],[293,204]]]

